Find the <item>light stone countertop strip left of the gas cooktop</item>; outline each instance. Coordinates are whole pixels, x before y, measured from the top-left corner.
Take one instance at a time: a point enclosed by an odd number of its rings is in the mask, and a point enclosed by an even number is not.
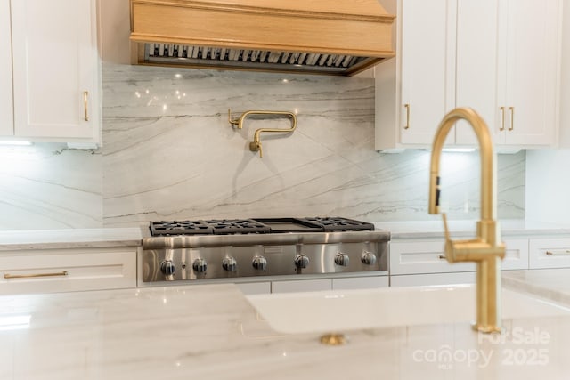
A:
[[[0,231],[0,251],[89,247],[136,247],[140,228],[5,230]]]

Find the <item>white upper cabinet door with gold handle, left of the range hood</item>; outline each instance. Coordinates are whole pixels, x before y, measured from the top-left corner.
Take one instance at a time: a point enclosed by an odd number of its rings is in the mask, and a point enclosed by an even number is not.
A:
[[[12,1],[17,135],[98,140],[95,14],[92,0]]]

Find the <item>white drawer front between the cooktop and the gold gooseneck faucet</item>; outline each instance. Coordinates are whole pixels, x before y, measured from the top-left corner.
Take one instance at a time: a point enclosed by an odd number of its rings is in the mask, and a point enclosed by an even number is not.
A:
[[[475,263],[448,263],[444,239],[390,243],[390,275],[475,271]]]

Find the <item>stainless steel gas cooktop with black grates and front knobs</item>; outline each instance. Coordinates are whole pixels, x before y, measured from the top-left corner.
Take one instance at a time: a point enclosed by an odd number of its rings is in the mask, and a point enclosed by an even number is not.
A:
[[[142,282],[387,271],[389,239],[340,217],[151,222]]]

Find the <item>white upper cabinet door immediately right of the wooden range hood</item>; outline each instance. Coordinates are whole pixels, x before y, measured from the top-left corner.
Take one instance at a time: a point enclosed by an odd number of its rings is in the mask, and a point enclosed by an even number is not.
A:
[[[400,141],[430,144],[454,103],[455,34],[448,31],[455,28],[455,5],[447,0],[403,0],[401,17]]]

